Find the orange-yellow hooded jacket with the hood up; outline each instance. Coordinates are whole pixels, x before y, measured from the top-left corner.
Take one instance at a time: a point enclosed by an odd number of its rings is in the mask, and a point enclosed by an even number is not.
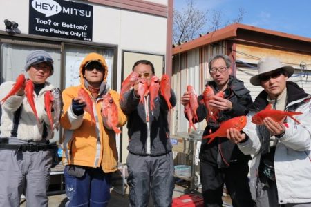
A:
[[[102,55],[90,53],[84,58],[79,68],[81,85],[66,88],[62,92],[64,101],[64,113],[60,120],[60,123],[64,128],[64,153],[62,161],[64,166],[68,164],[93,168],[102,166],[102,170],[108,173],[117,170],[117,148],[115,143],[115,133],[113,130],[105,128],[103,124],[102,115],[100,113],[102,109],[102,98],[97,98],[96,101],[91,98],[93,100],[96,124],[92,124],[91,115],[89,115],[88,112],[84,112],[82,119],[81,116],[76,116],[71,108],[72,99],[78,96],[80,88],[84,88],[84,90],[88,92],[88,95],[92,97],[91,92],[89,92],[84,86],[82,69],[88,61],[94,60],[100,61],[105,68],[103,81],[106,82],[108,72],[106,61]],[[114,90],[109,90],[109,93],[117,104],[117,112],[119,116],[118,126],[123,126],[126,124],[126,115],[124,115],[120,108],[120,96]]]

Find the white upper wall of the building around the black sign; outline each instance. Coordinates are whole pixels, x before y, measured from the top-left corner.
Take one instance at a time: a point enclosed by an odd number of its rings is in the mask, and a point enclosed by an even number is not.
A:
[[[82,3],[82,1],[76,1]],[[152,3],[167,5],[167,0]],[[87,2],[84,2],[87,3]],[[121,86],[122,50],[166,55],[167,18],[109,6],[93,5],[93,43],[117,45],[117,90]],[[0,3],[0,21],[19,23],[22,34],[28,34],[29,0],[10,0]],[[0,23],[0,30],[5,30]],[[87,42],[86,42],[87,43]]]

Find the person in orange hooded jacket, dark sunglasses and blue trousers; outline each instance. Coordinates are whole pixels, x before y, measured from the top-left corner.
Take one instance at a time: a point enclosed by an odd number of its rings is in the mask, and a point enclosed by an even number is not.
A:
[[[126,123],[119,94],[106,86],[108,68],[102,55],[88,54],[79,68],[79,86],[62,92],[64,113],[63,157],[66,206],[107,206],[110,199],[110,172],[117,170],[115,132],[102,119],[102,95],[110,93],[117,104],[118,126]],[[86,95],[78,95],[83,88]],[[86,96],[91,97],[95,123],[85,112]],[[88,103],[90,104],[90,103]]]

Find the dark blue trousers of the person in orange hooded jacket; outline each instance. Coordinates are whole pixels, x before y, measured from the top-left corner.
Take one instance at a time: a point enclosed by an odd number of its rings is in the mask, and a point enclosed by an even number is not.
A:
[[[106,207],[110,199],[110,177],[102,168],[85,168],[82,177],[68,175],[68,166],[64,170],[67,206]]]

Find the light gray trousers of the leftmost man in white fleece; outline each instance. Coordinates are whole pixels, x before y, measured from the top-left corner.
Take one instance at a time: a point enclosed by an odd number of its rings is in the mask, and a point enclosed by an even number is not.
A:
[[[27,206],[48,206],[50,151],[0,150],[0,206],[19,206],[21,194]]]

